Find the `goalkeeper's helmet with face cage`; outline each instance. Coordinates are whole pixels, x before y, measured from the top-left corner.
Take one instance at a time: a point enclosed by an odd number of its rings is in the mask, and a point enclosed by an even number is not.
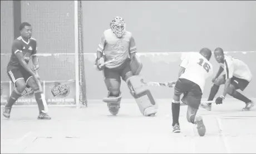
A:
[[[125,22],[124,19],[119,16],[112,20],[110,27],[117,37],[122,37],[125,34]]]

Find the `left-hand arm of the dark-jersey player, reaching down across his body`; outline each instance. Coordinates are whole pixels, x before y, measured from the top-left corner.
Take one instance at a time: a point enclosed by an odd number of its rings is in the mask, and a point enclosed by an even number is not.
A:
[[[25,59],[24,59],[24,56],[23,56],[23,53],[22,53],[22,44],[20,44],[19,42],[13,42],[12,52],[18,58],[18,61],[21,64],[21,66],[24,69],[26,69],[26,71],[28,71],[32,76],[34,76],[35,73],[29,68],[28,64],[25,62]]]

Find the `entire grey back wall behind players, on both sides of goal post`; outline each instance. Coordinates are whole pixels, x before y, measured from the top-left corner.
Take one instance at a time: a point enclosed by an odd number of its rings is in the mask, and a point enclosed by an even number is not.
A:
[[[13,40],[13,3],[1,1],[1,81],[9,80],[6,66]],[[199,51],[201,47],[225,51],[256,51],[255,1],[82,1],[83,48],[87,97],[106,96],[102,72],[93,69],[100,36],[109,28],[114,16],[122,16],[127,30],[134,34],[139,52],[146,53],[142,75],[150,81],[169,81],[177,77],[179,52]],[[40,57],[42,80],[70,80],[75,78],[73,1],[22,1],[21,21],[32,24],[33,37],[38,42],[38,53],[57,53]],[[152,52],[178,52],[151,54]],[[256,52],[234,53],[248,63],[255,76]],[[233,55],[233,54],[232,54]],[[163,59],[164,57],[164,59]],[[213,59],[212,59],[213,61]],[[213,61],[214,64],[214,61]],[[214,64],[216,72],[218,65]],[[164,73],[168,71],[168,73]],[[154,72],[154,75],[150,75]],[[210,80],[209,80],[210,81]],[[209,84],[205,90],[209,92]],[[255,81],[245,90],[255,97]],[[122,83],[124,98],[131,98]],[[152,88],[157,98],[170,98],[172,90]],[[208,95],[204,94],[204,97]]]

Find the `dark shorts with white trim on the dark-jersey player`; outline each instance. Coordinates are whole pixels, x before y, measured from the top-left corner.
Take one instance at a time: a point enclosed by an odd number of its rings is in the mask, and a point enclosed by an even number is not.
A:
[[[33,77],[28,71],[26,71],[26,69],[22,68],[13,68],[10,71],[7,72],[9,78],[11,79],[11,81],[13,82],[13,85],[15,85],[16,81],[19,79],[24,79],[24,81],[26,82],[27,85],[27,81],[29,80],[29,78]]]

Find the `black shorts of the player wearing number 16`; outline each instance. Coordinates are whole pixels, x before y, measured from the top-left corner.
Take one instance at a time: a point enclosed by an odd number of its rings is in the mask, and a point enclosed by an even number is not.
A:
[[[195,109],[199,108],[203,93],[198,84],[185,78],[179,78],[174,88],[174,95],[180,96],[181,94],[184,95],[182,99],[184,103]]]

